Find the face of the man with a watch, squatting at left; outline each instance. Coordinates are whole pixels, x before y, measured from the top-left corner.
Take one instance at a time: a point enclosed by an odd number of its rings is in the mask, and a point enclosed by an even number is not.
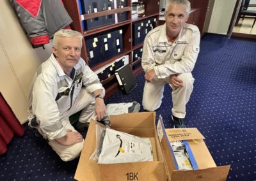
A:
[[[81,56],[81,41],[79,38],[59,38],[57,47],[52,47],[52,52],[65,71],[71,71]]]

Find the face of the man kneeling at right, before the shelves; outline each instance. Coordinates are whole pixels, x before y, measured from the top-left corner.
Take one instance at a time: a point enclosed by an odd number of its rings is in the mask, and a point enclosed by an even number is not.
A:
[[[186,5],[171,3],[164,15],[167,34],[172,37],[178,36],[188,17]]]

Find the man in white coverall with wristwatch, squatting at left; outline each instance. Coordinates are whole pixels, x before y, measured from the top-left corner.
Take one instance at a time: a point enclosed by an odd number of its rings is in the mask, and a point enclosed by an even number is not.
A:
[[[29,126],[38,129],[63,161],[78,157],[84,142],[68,117],[82,110],[76,124],[82,129],[91,118],[106,114],[104,88],[80,57],[82,40],[71,29],[56,32],[52,55],[36,71],[29,93]]]

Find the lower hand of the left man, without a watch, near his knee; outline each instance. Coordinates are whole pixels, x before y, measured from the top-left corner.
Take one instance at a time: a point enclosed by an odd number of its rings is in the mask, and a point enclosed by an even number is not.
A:
[[[75,143],[79,143],[83,141],[83,136],[76,132],[72,131],[71,129],[67,129],[67,134],[61,138],[55,139],[61,145],[74,145]]]

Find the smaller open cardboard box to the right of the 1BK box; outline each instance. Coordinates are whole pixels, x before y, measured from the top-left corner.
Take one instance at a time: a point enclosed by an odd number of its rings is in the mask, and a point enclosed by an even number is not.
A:
[[[204,136],[196,128],[164,129],[163,120],[157,122],[157,134],[166,161],[168,180],[226,180],[230,165],[216,166],[204,143]],[[198,170],[177,170],[170,141],[187,140]]]

